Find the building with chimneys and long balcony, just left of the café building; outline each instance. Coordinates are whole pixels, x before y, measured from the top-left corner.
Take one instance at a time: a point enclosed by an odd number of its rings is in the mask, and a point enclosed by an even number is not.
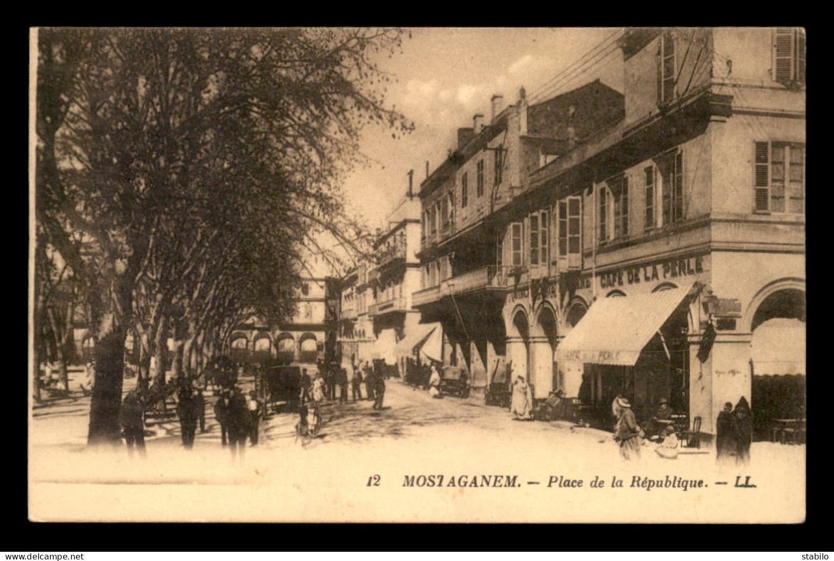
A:
[[[491,101],[490,123],[477,114],[472,128],[459,129],[455,151],[422,183],[423,288],[414,294],[424,321],[443,325],[444,363],[469,368],[475,391],[504,372],[515,342],[501,309],[523,264],[522,234],[506,225],[526,211],[512,203],[528,191],[530,173],[623,111],[622,95],[599,81],[541,103],[529,104],[523,89],[515,105]],[[543,244],[535,266],[547,270],[550,221],[539,219],[528,235]]]

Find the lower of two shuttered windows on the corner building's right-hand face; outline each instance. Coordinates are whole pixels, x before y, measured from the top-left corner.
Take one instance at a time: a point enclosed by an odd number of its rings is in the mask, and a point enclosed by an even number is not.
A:
[[[805,212],[805,146],[796,143],[755,143],[756,211]]]

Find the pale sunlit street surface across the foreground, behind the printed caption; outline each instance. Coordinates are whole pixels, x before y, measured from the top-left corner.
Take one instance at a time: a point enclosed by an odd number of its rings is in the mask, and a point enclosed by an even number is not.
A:
[[[241,383],[247,390],[253,379]],[[713,453],[706,450],[667,460],[646,447],[640,462],[626,463],[610,433],[562,422],[515,421],[506,409],[485,406],[481,397],[433,399],[398,379],[388,380],[382,411],[374,411],[369,400],[325,403],[319,435],[309,443],[295,437],[297,414],[272,415],[262,423],[259,446],[247,446],[244,458],[233,462],[220,444],[216,398],[210,391],[206,396],[207,432],[198,430],[193,449],[182,448],[174,419],[149,428],[154,435],[146,438],[146,458],[129,458],[124,446],[109,452],[85,448],[89,398],[36,408],[30,429],[33,512],[43,512],[44,519],[71,519],[62,518],[59,508],[69,501],[85,518],[103,520],[428,521],[457,520],[463,513],[489,522],[531,516],[607,521],[610,513],[626,508],[636,509],[638,518],[645,510],[646,521],[656,521],[656,500],[685,497],[678,511],[685,518],[691,508],[705,508],[702,501],[691,501],[706,492],[710,501],[721,495],[720,513],[727,521],[749,517],[747,510],[771,493],[782,498],[792,493],[797,511],[804,506],[804,478],[786,479],[790,483],[780,478],[778,484],[774,478],[804,473],[804,446],[754,443],[751,467],[725,473],[716,471]],[[443,475],[447,484],[450,478],[460,482],[460,476],[467,483],[483,475],[515,476],[518,488],[404,487],[408,476],[421,474]],[[614,476],[623,478],[625,488],[590,490],[597,475],[609,487]],[[635,476],[666,475],[701,478],[711,487],[728,484],[701,491],[631,486]],[[760,491],[734,488],[736,475],[751,475]],[[550,478],[559,476],[583,479],[583,488],[548,487]],[[96,500],[88,499],[91,493]],[[580,511],[570,514],[565,508],[578,498]],[[596,502],[598,508],[592,508]],[[530,508],[522,508],[525,504]],[[745,510],[733,514],[737,508]],[[766,518],[767,512],[762,503],[758,513]],[[674,520],[677,513],[671,509],[668,515]]]

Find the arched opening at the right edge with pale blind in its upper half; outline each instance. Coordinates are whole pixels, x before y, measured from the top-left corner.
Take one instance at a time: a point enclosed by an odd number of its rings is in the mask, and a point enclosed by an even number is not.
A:
[[[805,292],[769,294],[751,320],[751,408],[754,438],[771,439],[776,419],[805,418]]]

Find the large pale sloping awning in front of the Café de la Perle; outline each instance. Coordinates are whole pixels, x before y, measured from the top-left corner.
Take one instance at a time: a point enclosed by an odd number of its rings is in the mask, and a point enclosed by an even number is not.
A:
[[[556,348],[556,360],[634,366],[693,283],[649,294],[600,298]]]

